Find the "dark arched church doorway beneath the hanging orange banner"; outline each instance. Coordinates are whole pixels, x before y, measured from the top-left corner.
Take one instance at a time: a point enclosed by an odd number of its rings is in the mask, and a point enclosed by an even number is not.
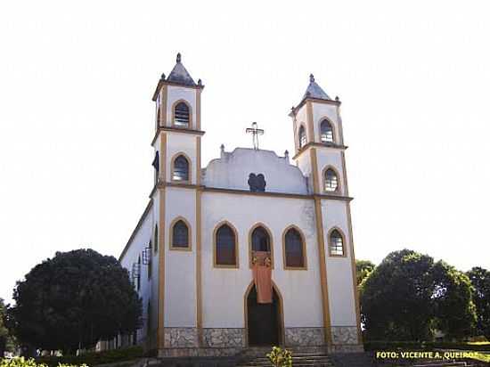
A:
[[[282,299],[273,287],[273,303],[257,304],[257,290],[252,282],[245,294],[245,320],[249,347],[282,344]]]

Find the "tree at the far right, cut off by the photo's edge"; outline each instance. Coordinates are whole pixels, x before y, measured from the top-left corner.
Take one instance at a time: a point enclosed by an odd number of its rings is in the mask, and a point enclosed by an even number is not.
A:
[[[474,267],[467,273],[474,288],[474,300],[477,308],[477,335],[490,340],[490,271]]]

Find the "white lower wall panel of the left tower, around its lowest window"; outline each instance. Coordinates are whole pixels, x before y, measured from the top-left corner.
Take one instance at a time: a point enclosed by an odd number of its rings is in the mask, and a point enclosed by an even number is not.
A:
[[[171,141],[172,139],[169,139]],[[165,199],[165,327],[196,326],[195,190],[167,187]],[[192,250],[171,250],[170,224],[182,216],[191,224]]]

